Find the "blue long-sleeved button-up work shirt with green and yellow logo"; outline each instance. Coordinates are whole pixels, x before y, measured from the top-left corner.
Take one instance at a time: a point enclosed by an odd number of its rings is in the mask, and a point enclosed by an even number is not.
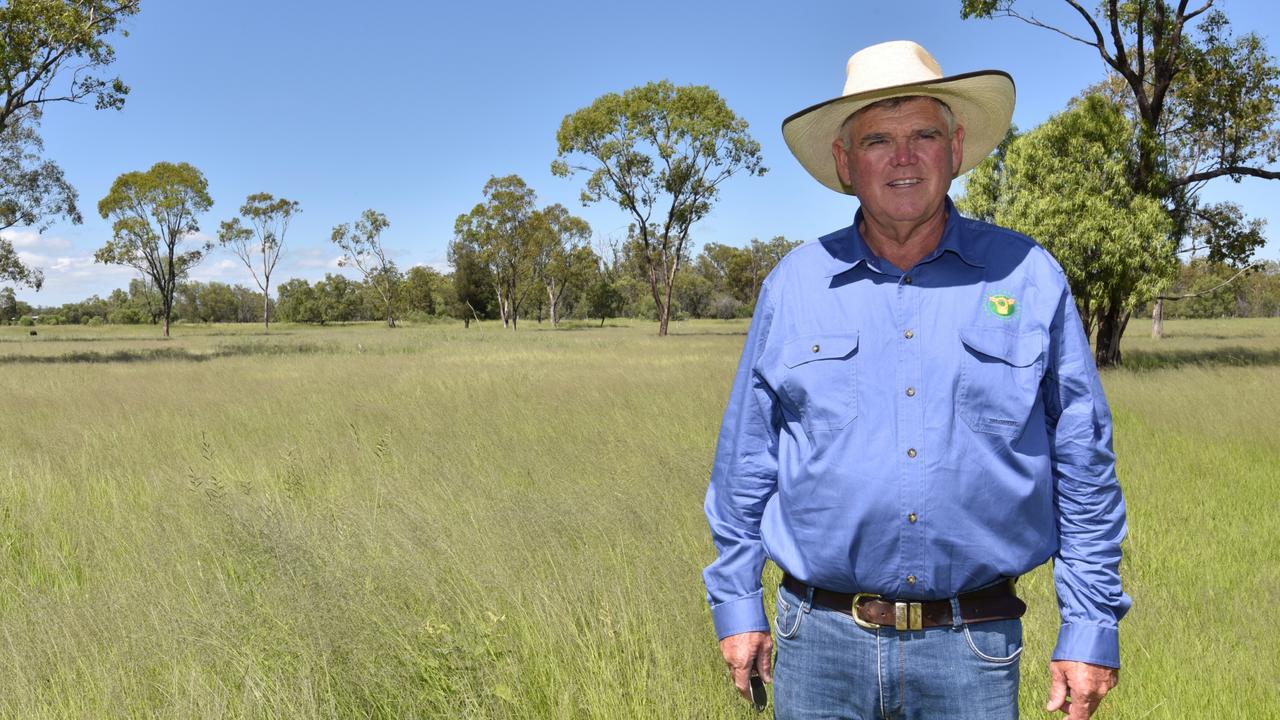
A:
[[[1055,660],[1120,666],[1124,498],[1066,277],[961,217],[902,272],[851,227],[764,281],[707,492],[716,632],[763,630],[765,557],[838,592],[940,600],[1053,559]]]

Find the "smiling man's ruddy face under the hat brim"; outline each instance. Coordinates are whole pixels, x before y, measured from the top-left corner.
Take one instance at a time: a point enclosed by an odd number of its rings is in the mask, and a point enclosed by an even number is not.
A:
[[[916,223],[942,211],[960,164],[964,128],[947,137],[937,102],[910,97],[867,108],[850,120],[849,146],[832,143],[840,179],[852,186],[863,213],[878,223]]]

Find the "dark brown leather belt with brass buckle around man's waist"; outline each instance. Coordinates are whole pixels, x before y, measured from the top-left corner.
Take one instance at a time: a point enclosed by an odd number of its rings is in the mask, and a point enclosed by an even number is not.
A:
[[[792,593],[805,597],[809,585],[782,575],[782,584]],[[1010,620],[1027,612],[1027,603],[1014,593],[1014,579],[1010,578],[984,588],[960,593],[960,620],[964,623],[986,623],[988,620]],[[813,603],[828,610],[844,612],[864,628],[896,628],[899,630],[920,630],[951,625],[951,600],[919,602],[911,600],[887,600],[872,593],[847,593],[813,588]]]

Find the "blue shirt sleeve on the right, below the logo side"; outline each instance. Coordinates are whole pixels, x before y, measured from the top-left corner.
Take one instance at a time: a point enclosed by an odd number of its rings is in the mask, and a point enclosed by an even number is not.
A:
[[[1111,448],[1111,409],[1069,290],[1050,336],[1044,407],[1059,534],[1053,582],[1062,616],[1053,660],[1119,667],[1117,624],[1132,605],[1120,587],[1124,496]]]

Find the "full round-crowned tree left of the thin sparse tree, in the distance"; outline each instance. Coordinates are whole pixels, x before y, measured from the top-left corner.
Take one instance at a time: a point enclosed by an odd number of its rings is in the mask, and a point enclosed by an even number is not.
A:
[[[212,250],[196,234],[198,215],[212,205],[205,176],[187,163],[124,173],[97,204],[99,214],[111,220],[113,236],[93,260],[133,268],[155,286],[165,337],[178,282]]]

